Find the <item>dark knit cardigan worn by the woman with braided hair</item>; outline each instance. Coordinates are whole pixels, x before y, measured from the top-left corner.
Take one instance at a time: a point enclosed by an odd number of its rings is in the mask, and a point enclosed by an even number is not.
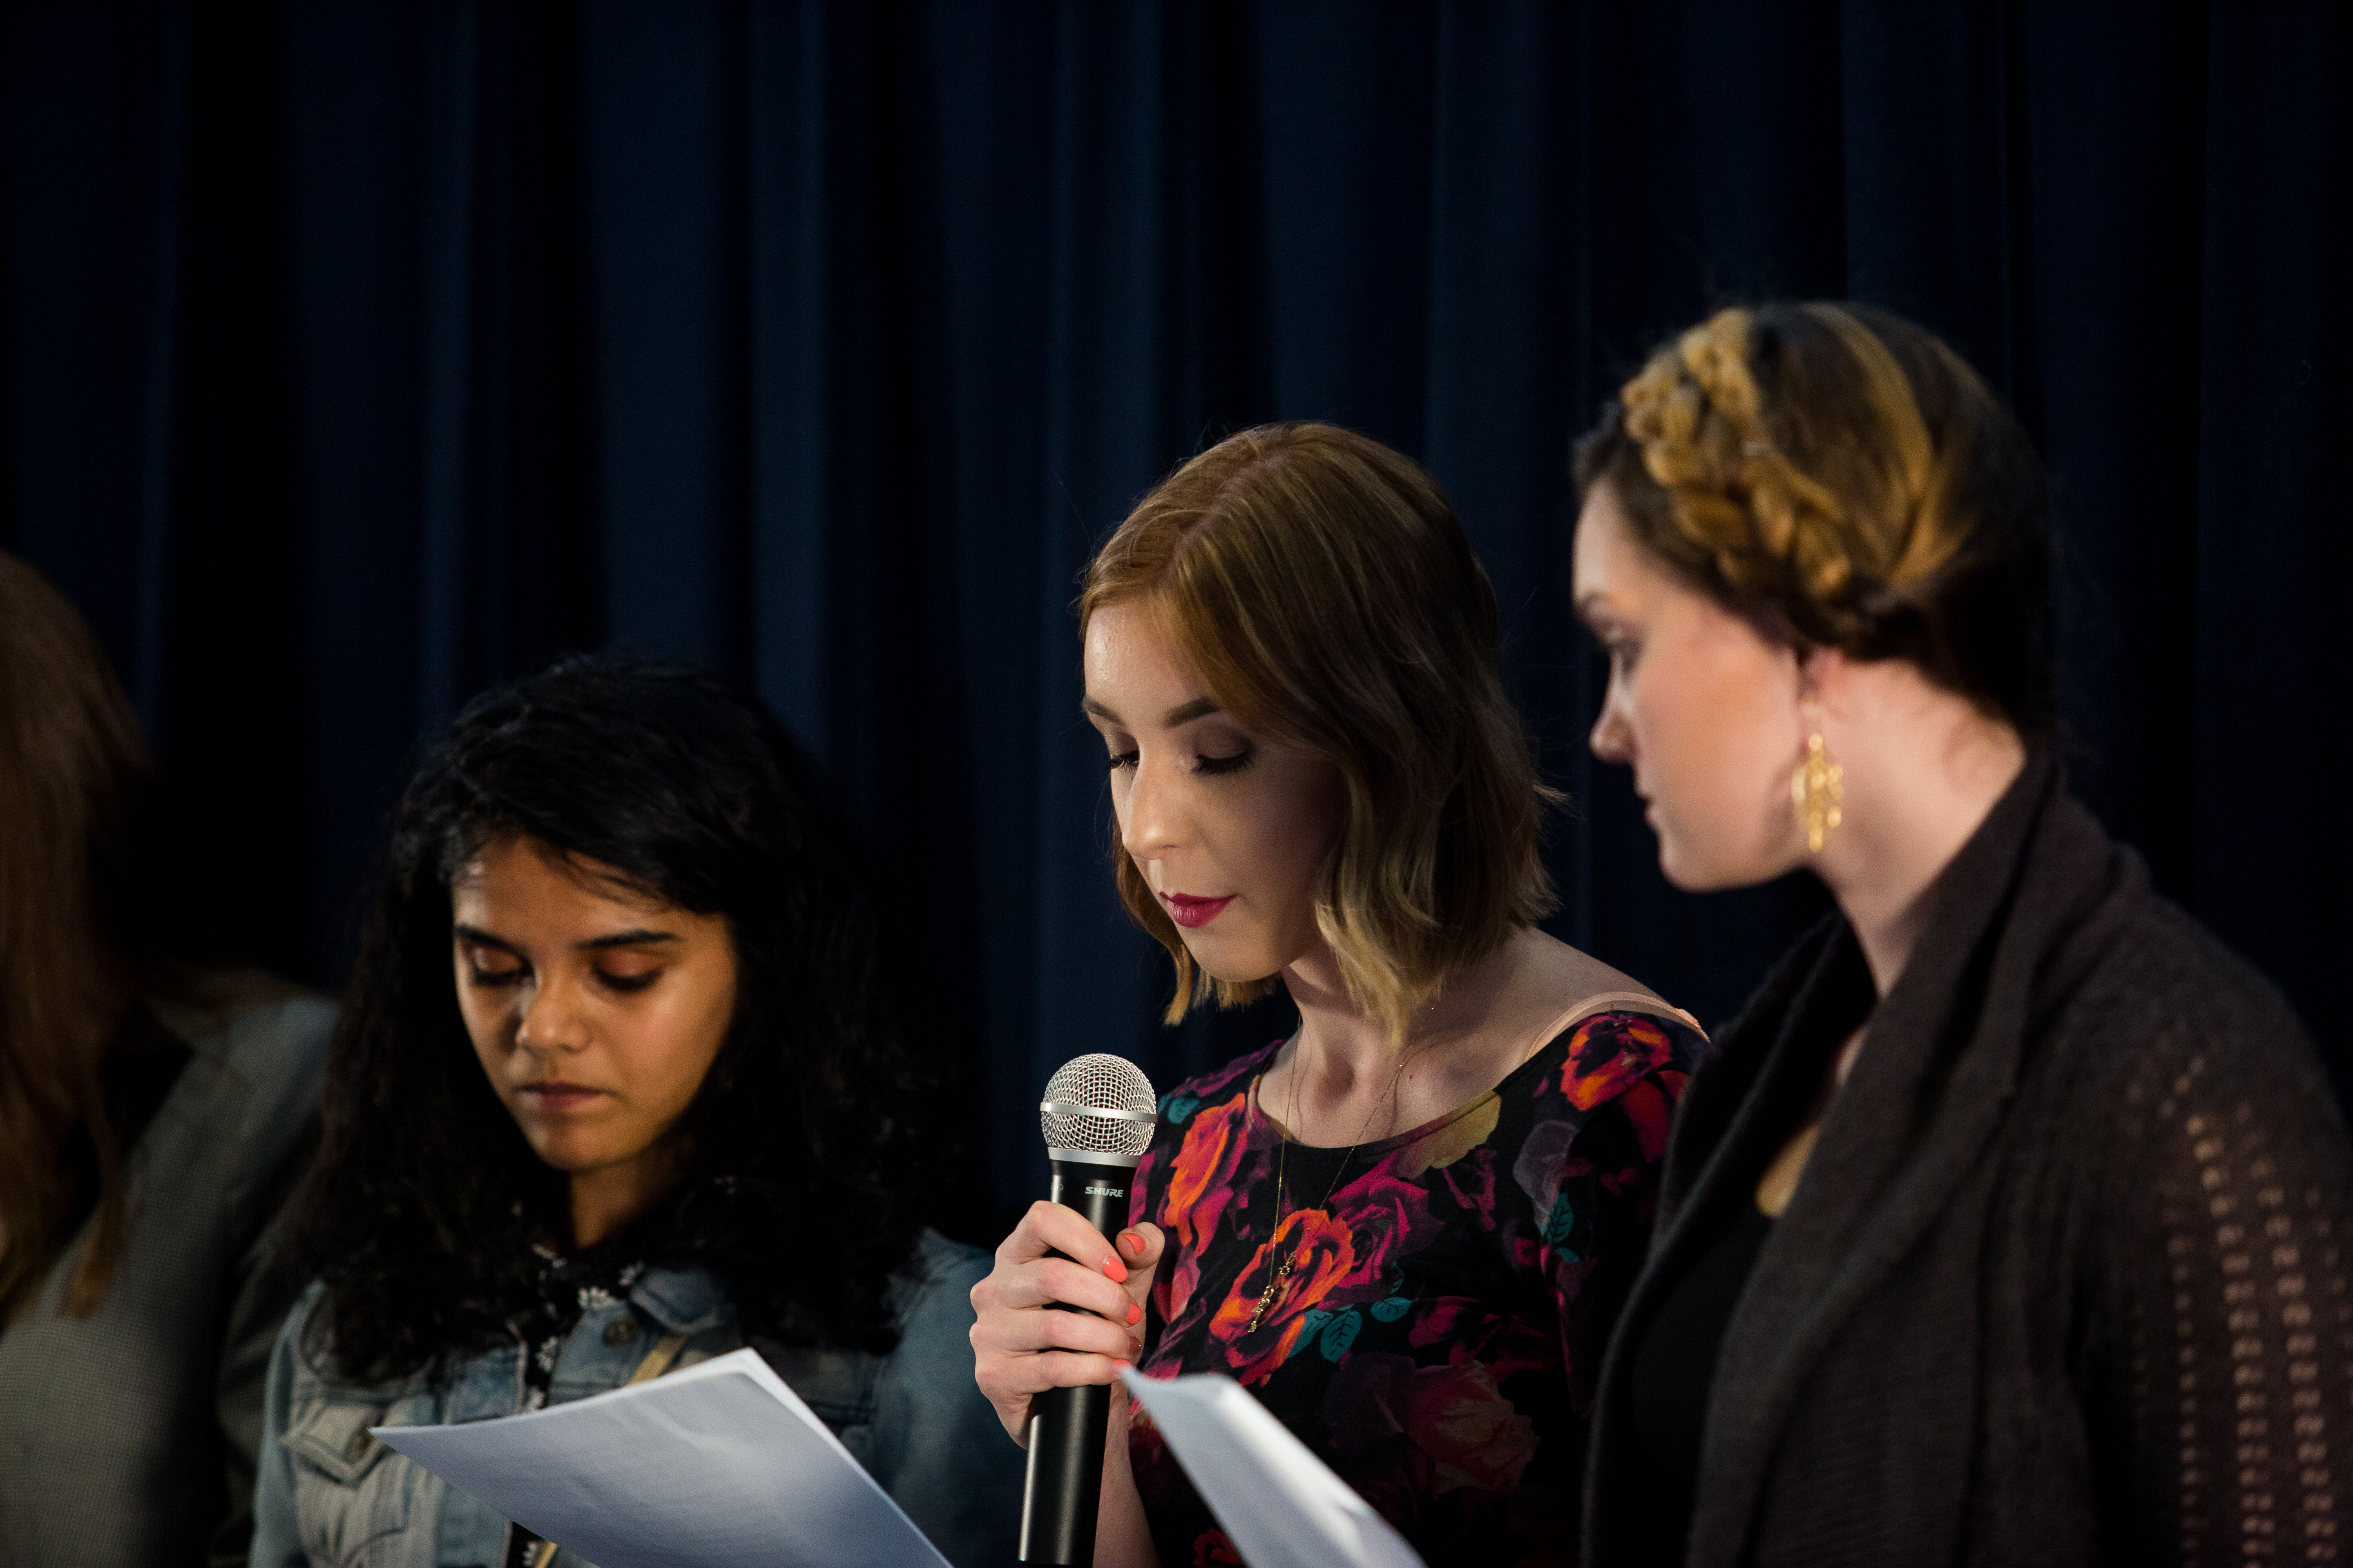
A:
[[[2353,1150],[2285,999],[2033,757],[1873,1009],[1812,931],[1694,1074],[1586,1568],[2353,1561]],[[1631,1347],[1868,1016],[1725,1331],[1675,1540]]]

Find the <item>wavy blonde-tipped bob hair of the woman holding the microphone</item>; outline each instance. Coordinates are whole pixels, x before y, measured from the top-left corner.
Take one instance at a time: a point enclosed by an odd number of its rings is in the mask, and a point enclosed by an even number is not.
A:
[[[1412,1011],[1553,907],[1527,731],[1497,670],[1497,602],[1438,484],[1337,425],[1231,435],[1153,489],[1078,599],[1141,599],[1202,691],[1341,778],[1315,926],[1351,999]],[[1202,976],[1113,832],[1120,903],[1176,961],[1167,1023],[1275,976]]]

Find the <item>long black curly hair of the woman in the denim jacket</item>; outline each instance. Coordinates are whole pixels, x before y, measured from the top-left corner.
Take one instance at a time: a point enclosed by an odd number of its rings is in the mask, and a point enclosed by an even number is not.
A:
[[[941,1100],[887,1004],[856,835],[758,698],[612,656],[468,703],[400,799],[294,1215],[327,1288],[308,1349],[367,1380],[445,1368],[506,1338],[532,1244],[567,1234],[567,1180],[485,1079],[452,980],[449,879],[501,837],[727,919],[736,1011],[649,1260],[713,1269],[746,1333],[887,1349]]]

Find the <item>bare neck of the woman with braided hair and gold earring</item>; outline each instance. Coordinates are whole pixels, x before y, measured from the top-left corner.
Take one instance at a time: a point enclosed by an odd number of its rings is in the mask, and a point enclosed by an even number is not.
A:
[[[2026,743],[1946,693],[1873,712],[1849,733],[1871,743],[1842,759],[1845,823],[1817,870],[1885,997],[1920,940],[1929,889],[2026,766]]]

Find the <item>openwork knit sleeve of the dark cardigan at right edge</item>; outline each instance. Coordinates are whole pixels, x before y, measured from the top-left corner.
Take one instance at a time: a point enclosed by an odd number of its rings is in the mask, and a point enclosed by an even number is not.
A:
[[[2334,1095],[2292,1025],[2278,1051],[2144,1060],[2141,1159],[2108,1206],[2127,1427],[2122,1453],[2094,1455],[2111,1519],[2132,1561],[2353,1561],[2353,1154]]]

